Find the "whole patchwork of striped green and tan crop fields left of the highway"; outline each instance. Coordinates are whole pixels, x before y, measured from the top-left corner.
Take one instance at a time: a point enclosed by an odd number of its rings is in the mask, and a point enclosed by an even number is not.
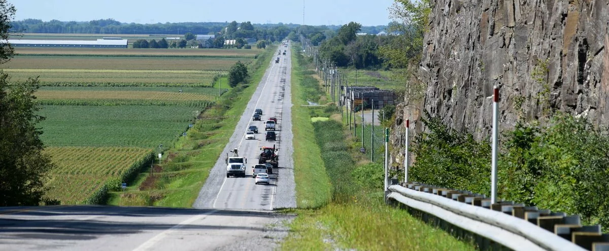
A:
[[[116,36],[119,37],[119,36]],[[58,168],[48,199],[79,204],[172,147],[224,93],[228,69],[256,50],[16,48],[13,81],[38,77],[41,140]],[[214,88],[215,87],[215,88]],[[225,88],[223,86],[223,88]],[[129,171],[128,171],[129,170]],[[128,180],[125,180],[128,179]]]

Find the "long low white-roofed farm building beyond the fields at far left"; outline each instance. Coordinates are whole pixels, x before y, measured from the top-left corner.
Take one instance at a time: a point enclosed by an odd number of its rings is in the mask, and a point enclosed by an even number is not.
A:
[[[6,43],[6,40],[0,40]],[[9,39],[15,47],[65,47],[65,48],[127,48],[126,39],[98,39],[98,40],[19,40]]]

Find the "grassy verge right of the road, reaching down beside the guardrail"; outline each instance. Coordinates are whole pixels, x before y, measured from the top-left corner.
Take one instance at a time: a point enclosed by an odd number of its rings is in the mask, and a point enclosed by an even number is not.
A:
[[[382,201],[382,169],[366,164],[336,107],[303,107],[323,95],[308,62],[294,53],[294,166],[299,209],[283,250],[473,250]],[[327,121],[311,122],[311,117]],[[320,156],[320,157],[318,157]],[[380,174],[380,175],[379,175]],[[381,183],[381,184],[379,184]],[[396,231],[402,230],[402,231]]]

